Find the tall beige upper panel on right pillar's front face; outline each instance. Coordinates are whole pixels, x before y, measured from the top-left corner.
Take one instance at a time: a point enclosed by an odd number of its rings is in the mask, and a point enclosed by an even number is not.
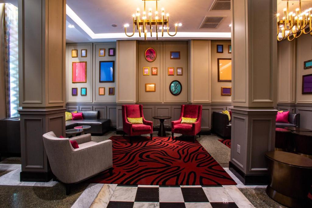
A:
[[[252,102],[272,101],[271,30],[259,25],[271,24],[271,5],[262,1],[251,1],[251,76]],[[258,18],[262,17],[262,18]],[[261,40],[261,41],[260,41]],[[261,58],[260,58],[261,57]]]

